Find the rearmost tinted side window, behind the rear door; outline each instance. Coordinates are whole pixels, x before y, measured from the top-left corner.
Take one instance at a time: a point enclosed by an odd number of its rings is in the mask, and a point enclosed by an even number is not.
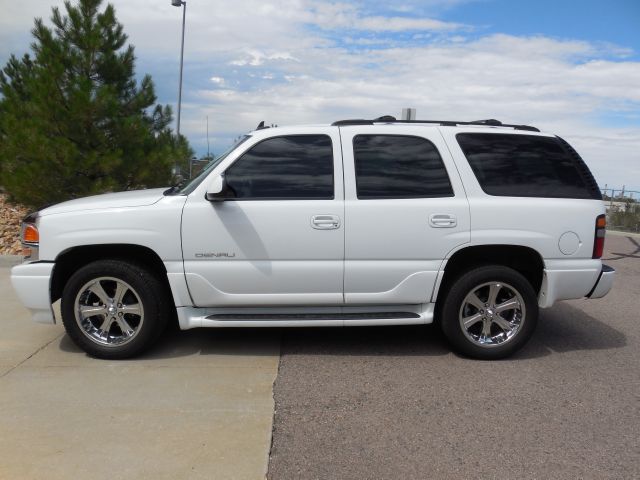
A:
[[[575,160],[556,138],[497,133],[456,137],[489,195],[592,198]]]

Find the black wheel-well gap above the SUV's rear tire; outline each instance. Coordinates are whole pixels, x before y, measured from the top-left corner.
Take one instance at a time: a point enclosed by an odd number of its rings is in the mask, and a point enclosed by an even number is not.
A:
[[[442,296],[450,284],[461,273],[483,265],[503,265],[522,274],[531,284],[536,294],[540,293],[544,276],[544,260],[539,252],[522,245],[474,245],[456,251],[444,267],[444,274],[436,285],[434,298],[441,303]]]

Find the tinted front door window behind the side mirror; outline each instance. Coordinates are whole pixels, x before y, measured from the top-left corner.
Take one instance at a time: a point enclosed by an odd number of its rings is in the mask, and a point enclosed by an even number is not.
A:
[[[327,135],[264,140],[225,172],[238,199],[332,199],[333,148]]]

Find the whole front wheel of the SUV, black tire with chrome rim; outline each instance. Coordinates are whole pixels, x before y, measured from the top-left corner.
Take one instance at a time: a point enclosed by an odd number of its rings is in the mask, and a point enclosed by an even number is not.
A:
[[[121,295],[118,286],[124,290]],[[151,347],[164,331],[173,308],[166,290],[157,274],[143,265],[122,260],[92,262],[76,271],[64,287],[62,323],[71,340],[89,355],[131,358]],[[114,303],[116,296],[121,304]],[[104,313],[80,314],[81,306]]]

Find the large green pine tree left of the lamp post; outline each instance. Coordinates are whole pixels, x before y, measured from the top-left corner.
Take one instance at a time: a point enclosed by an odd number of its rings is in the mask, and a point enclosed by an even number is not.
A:
[[[112,5],[65,2],[35,20],[32,55],[0,72],[0,185],[31,206],[166,185],[192,151],[155,105],[151,77],[135,79],[134,49]]]

